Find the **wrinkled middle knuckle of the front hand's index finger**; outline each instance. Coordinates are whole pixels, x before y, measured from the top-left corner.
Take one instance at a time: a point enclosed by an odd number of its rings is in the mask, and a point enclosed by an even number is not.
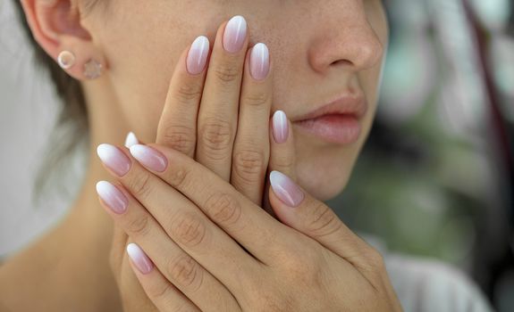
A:
[[[210,195],[206,201],[206,211],[216,223],[232,226],[240,221],[241,207],[239,201],[226,193]]]

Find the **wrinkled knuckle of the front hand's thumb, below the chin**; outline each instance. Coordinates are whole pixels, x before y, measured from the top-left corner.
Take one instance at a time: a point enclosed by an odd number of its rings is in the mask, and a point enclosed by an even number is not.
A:
[[[342,222],[332,209],[323,202],[317,202],[307,221],[308,231],[317,237],[331,235],[341,229]]]

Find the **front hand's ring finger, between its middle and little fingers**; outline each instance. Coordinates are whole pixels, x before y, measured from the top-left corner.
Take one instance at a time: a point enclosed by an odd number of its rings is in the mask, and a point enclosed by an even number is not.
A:
[[[97,184],[97,193],[114,223],[144,248],[166,279],[199,308],[236,307],[232,293],[173,242],[122,185],[101,181]],[[155,293],[158,295],[159,291]]]

